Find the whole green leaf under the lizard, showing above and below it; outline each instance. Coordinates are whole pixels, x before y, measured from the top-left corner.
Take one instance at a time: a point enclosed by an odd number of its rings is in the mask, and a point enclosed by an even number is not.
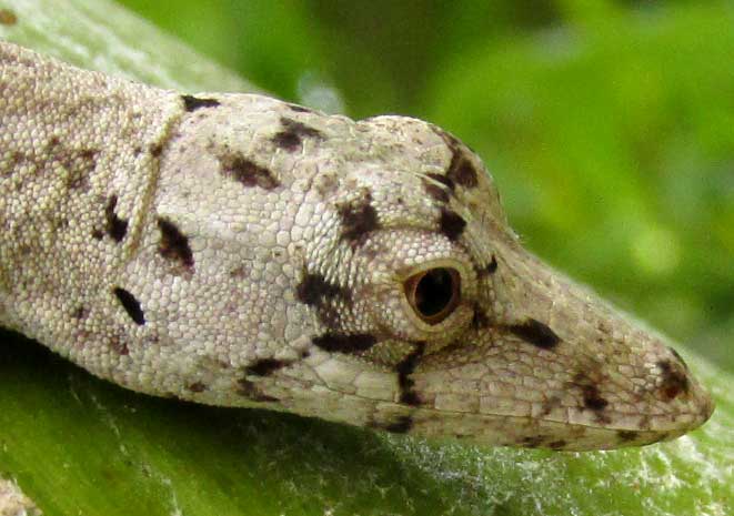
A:
[[[187,91],[250,89],[103,1],[1,8],[18,18],[2,38],[84,68]],[[18,335],[0,342],[0,476],[46,515],[724,515],[734,499],[734,378],[695,357],[718,405],[703,428],[581,454],[153,398]]]

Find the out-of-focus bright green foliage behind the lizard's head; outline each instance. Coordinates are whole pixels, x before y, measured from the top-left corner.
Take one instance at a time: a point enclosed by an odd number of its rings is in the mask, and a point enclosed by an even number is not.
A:
[[[731,1],[121,3],[280,98],[452,131],[529,249],[734,371]]]

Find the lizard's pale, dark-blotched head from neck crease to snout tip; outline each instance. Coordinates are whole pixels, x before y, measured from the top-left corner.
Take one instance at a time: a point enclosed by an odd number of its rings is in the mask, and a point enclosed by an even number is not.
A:
[[[217,99],[187,99],[145,247],[183,274],[173,333],[192,337],[159,364],[190,375],[184,397],[556,449],[668,439],[711,415],[661,336],[522,247],[455,138]],[[201,300],[221,317],[189,311]]]

